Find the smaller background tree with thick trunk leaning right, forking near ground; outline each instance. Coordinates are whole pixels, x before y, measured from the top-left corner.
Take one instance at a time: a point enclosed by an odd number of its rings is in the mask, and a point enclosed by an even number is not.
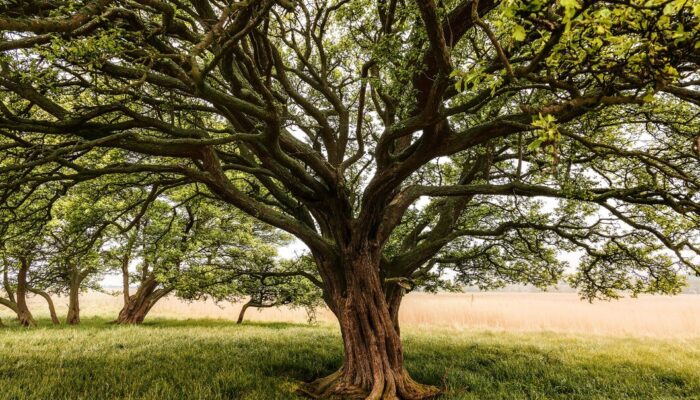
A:
[[[138,223],[110,253],[135,261],[131,282],[138,282],[116,320],[121,324],[143,322],[164,296],[175,292],[206,290],[211,280],[228,279],[228,272],[214,266],[221,260],[247,268],[268,260],[272,246],[284,242],[278,231],[231,207],[212,202],[196,191],[175,190],[152,200]]]

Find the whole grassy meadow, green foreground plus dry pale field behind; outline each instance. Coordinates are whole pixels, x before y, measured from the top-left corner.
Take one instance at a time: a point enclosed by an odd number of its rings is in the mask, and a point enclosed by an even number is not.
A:
[[[93,293],[79,327],[0,330],[0,398],[295,399],[298,382],[342,361],[325,312],[309,325],[300,310],[253,311],[236,325],[237,305],[167,299],[123,327],[109,324],[118,306]],[[700,399],[699,311],[691,295],[415,294],[402,335],[410,372],[442,399]]]

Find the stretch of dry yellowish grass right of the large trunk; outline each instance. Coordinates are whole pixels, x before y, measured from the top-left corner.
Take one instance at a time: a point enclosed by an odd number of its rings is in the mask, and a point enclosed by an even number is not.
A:
[[[401,319],[457,329],[698,337],[700,296],[642,296],[590,304],[575,293],[417,293],[407,297]]]

